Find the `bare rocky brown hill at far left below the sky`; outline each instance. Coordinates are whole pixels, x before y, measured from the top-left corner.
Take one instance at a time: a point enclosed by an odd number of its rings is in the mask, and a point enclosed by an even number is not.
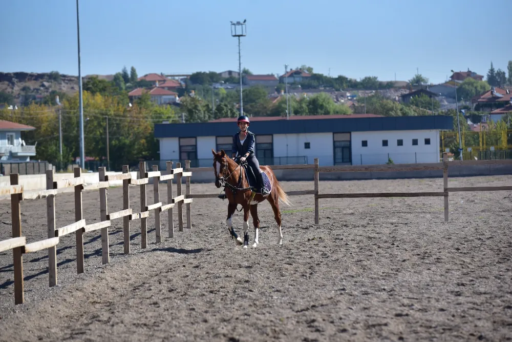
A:
[[[0,91],[12,94],[18,105],[23,103],[25,96],[37,101],[49,95],[53,90],[69,95],[77,92],[78,77],[59,74],[56,71],[49,73],[0,72]]]

